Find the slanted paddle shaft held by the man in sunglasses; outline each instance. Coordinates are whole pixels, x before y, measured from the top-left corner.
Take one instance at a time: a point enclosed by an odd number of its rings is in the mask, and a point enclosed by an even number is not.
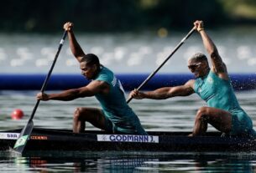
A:
[[[187,38],[189,38],[192,33],[194,33],[194,31],[195,31],[195,28],[192,28],[191,31],[185,36],[185,38],[183,38],[183,39],[180,41],[180,43],[175,47],[175,49],[172,51],[172,53],[170,53],[170,55],[165,59],[165,61],[164,61],[162,64],[160,64],[159,67],[158,67],[157,69],[155,69],[154,72],[152,72],[152,73],[149,75],[149,77],[144,80],[144,82],[143,82],[142,84],[140,84],[140,85],[138,86],[138,89],[137,89],[137,90],[141,89],[145,84],[147,84],[147,83],[149,82],[149,79],[151,79],[151,78],[154,76],[154,74],[156,74],[156,73],[159,71],[159,69],[161,69],[161,68],[163,67],[163,65],[164,65],[164,64],[170,59],[170,57],[180,48],[180,46],[185,42],[185,40],[186,40]],[[132,99],[133,99],[133,98],[130,97],[126,102],[129,103]]]

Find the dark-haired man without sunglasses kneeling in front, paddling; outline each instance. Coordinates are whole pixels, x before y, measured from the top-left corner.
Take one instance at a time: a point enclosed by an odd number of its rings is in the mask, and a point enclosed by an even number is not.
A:
[[[78,89],[68,89],[57,94],[37,94],[40,100],[62,100],[95,96],[102,109],[76,108],[73,118],[73,131],[81,133],[86,129],[86,122],[112,134],[147,135],[138,120],[138,116],[126,103],[122,84],[110,69],[107,69],[93,53],[84,53],[76,41],[73,23],[65,23],[68,32],[71,52],[80,64],[81,74],[91,82]]]

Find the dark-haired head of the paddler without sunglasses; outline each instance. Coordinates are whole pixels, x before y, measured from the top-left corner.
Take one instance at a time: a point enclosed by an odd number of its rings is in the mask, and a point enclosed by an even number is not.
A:
[[[101,64],[97,55],[88,53],[80,61],[81,74],[86,77],[86,79],[94,79],[99,73]]]

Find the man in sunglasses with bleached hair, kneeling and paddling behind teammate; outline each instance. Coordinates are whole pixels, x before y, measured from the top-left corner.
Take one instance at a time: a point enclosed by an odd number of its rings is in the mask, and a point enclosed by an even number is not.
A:
[[[196,21],[194,26],[201,35],[203,45],[212,60],[212,67],[210,68],[205,54],[196,53],[188,60],[188,69],[196,79],[191,79],[184,85],[149,92],[135,89],[130,93],[130,97],[168,99],[196,93],[206,101],[207,106],[198,109],[191,136],[205,135],[207,125],[210,124],[225,134],[248,135],[254,138],[256,133],[253,130],[253,122],[238,103],[227,74],[226,64],[222,61],[216,45],[206,33],[202,21]]]

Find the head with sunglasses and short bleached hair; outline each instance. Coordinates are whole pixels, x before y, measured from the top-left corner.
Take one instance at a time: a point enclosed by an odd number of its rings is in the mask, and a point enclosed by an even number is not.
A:
[[[206,55],[203,53],[194,54],[191,59],[188,60],[188,68],[196,78],[205,76],[210,69]]]

